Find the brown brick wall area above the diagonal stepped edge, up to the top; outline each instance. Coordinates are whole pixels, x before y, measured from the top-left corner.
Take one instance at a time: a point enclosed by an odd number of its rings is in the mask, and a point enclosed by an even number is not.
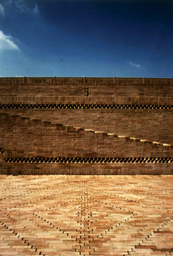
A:
[[[19,108],[1,112],[173,144],[173,79],[145,78],[145,84],[143,78],[116,78],[115,83],[113,78],[86,78],[85,84],[84,78],[56,78],[55,83],[54,78],[26,78],[32,83],[21,83],[23,80],[0,78],[1,104],[149,104],[170,108]],[[13,83],[8,84],[10,81]],[[89,96],[85,96],[87,92]]]

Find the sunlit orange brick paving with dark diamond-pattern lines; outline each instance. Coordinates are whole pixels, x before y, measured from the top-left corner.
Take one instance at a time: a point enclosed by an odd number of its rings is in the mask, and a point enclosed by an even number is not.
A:
[[[0,255],[173,255],[173,175],[0,175]]]

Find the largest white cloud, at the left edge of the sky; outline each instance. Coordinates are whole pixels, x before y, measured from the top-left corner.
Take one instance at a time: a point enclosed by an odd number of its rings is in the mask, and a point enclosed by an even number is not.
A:
[[[19,50],[19,47],[12,41],[12,36],[5,36],[1,30],[0,50]]]

